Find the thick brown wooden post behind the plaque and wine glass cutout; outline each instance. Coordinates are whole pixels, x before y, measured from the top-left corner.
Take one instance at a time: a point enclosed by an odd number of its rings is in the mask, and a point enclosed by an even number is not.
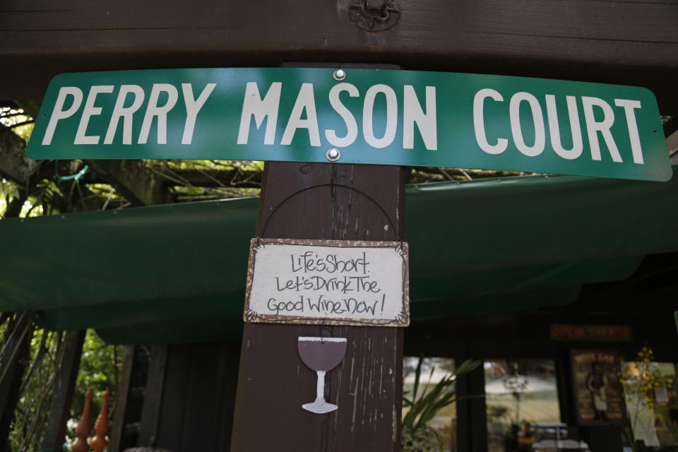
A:
[[[404,234],[402,167],[267,163],[258,228],[283,199],[304,187],[335,182],[376,198]],[[396,240],[388,219],[369,198],[341,187],[320,187],[290,198],[266,226],[265,237]],[[338,410],[302,410],[313,400],[316,374],[297,354],[297,337],[348,340],[343,362],[326,376],[326,400]],[[232,451],[400,450],[402,328],[246,323],[234,412]]]

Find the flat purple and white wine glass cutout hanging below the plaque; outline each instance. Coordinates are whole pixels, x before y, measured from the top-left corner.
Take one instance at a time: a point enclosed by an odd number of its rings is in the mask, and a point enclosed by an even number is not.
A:
[[[338,407],[325,401],[325,374],[339,365],[346,355],[346,338],[313,338],[299,336],[299,357],[304,364],[318,374],[316,400],[304,403],[304,410],[323,415]]]

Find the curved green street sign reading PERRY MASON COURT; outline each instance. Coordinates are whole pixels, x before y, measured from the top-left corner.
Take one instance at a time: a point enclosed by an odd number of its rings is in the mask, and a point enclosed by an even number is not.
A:
[[[374,69],[66,73],[35,159],[220,159],[506,169],[666,181],[646,88]]]

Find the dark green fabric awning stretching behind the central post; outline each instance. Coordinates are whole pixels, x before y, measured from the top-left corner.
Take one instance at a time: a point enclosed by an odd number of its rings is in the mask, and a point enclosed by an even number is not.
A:
[[[112,342],[239,335],[256,198],[0,221],[0,311]],[[573,302],[678,251],[678,178],[408,186],[412,319]],[[178,328],[178,329],[177,329]]]

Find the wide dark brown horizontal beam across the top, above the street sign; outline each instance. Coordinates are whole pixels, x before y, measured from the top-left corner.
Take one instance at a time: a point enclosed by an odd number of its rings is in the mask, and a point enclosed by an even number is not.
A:
[[[62,72],[350,61],[641,85],[678,108],[675,0],[400,0],[376,33],[352,3],[5,1],[0,98],[40,99]]]

